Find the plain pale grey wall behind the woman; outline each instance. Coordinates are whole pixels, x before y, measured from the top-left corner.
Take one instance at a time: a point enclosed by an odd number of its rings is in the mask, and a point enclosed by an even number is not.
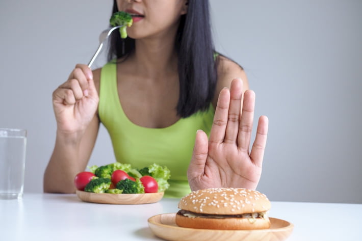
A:
[[[42,192],[54,147],[51,93],[88,63],[112,2],[0,3],[0,126],[29,131],[25,192]],[[273,201],[362,203],[362,1],[210,2],[217,50],[245,68],[256,116],[269,117],[258,190]],[[114,161],[101,126],[89,165]]]

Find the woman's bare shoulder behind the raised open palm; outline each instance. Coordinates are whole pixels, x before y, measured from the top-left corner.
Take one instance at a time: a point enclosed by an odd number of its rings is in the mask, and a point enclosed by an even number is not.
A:
[[[214,106],[216,106],[220,91],[224,87],[229,88],[230,83],[234,78],[241,78],[243,80],[244,91],[249,89],[249,83],[244,68],[241,65],[239,65],[237,62],[223,55],[218,55],[216,57],[216,65],[217,65],[217,84],[213,100]]]

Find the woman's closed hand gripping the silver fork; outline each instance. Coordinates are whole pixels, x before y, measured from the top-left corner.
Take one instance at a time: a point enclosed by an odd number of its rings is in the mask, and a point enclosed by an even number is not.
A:
[[[87,65],[76,65],[68,80],[53,92],[58,132],[82,133],[94,117],[98,101],[92,70]]]

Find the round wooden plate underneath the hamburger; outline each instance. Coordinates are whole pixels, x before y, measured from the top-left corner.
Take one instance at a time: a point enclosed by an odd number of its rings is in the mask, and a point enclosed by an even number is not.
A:
[[[293,231],[293,224],[270,218],[271,227],[260,230],[213,230],[178,227],[176,213],[164,213],[148,219],[154,235],[170,241],[282,241]]]

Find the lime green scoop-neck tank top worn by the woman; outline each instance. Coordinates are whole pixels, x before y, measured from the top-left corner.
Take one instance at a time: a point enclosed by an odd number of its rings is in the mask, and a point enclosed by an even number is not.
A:
[[[98,113],[112,140],[117,162],[135,168],[156,163],[171,171],[165,197],[180,198],[190,193],[187,169],[191,160],[196,131],[209,136],[214,118],[212,104],[207,111],[181,118],[165,128],[147,128],[134,124],[124,114],[117,90],[117,68],[108,63],[101,69]]]

